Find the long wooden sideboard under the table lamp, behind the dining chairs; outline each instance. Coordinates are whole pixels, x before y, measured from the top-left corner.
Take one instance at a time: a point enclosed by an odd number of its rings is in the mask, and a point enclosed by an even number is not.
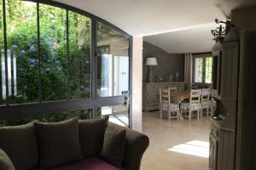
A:
[[[143,83],[143,111],[159,110],[160,88],[183,88],[184,82]]]

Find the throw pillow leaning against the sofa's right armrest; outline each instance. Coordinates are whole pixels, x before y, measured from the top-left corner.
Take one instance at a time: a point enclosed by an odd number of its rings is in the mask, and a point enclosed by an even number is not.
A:
[[[125,133],[125,128],[108,126],[104,136],[100,156],[117,167],[121,167],[125,155]]]

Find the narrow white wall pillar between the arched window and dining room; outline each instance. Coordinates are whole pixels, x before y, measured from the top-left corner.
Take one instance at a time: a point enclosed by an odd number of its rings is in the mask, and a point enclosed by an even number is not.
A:
[[[143,37],[132,37],[132,129],[142,132],[143,126]]]

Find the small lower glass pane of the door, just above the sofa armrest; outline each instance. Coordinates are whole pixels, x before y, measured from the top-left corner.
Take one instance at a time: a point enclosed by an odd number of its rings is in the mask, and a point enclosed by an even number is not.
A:
[[[129,107],[124,105],[99,107],[97,109],[97,117],[101,116],[109,116],[109,122],[129,127]]]

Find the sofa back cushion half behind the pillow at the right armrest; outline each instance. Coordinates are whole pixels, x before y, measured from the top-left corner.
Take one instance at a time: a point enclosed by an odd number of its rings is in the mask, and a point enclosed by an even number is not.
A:
[[[107,126],[108,117],[79,121],[80,145],[85,157],[97,156],[100,153]]]

